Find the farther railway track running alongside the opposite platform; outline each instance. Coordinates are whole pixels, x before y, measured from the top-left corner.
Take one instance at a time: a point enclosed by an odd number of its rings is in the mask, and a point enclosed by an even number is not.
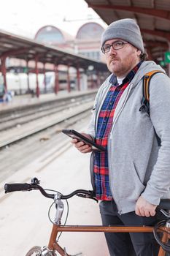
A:
[[[18,107],[15,110],[4,110],[0,112],[0,132],[18,127],[28,122],[53,115],[64,109],[74,108],[82,102],[90,102],[94,98],[94,91],[88,94],[77,95],[76,97],[66,97],[65,99],[43,102],[43,104],[34,104]]]

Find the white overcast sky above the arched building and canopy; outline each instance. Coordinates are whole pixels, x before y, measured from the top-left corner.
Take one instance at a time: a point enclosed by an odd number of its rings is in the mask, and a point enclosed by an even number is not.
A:
[[[0,29],[34,39],[42,26],[53,25],[75,36],[82,24],[107,26],[84,0],[0,0]]]

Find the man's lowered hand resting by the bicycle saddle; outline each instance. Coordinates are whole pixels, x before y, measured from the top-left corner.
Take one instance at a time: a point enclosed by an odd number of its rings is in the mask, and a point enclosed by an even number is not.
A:
[[[139,216],[150,217],[155,215],[155,205],[152,205],[142,196],[136,202],[135,213]]]

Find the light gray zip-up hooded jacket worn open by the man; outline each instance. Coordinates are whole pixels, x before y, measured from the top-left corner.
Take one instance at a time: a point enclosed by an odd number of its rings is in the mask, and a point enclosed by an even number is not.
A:
[[[142,105],[142,77],[152,70],[164,70],[154,61],[144,61],[123,92],[108,138],[109,183],[120,214],[134,211],[142,195],[158,205],[170,197],[170,79],[158,73],[150,83],[150,116]],[[88,133],[95,138],[98,113],[111,83],[109,78],[96,95]],[[156,133],[155,133],[156,132]],[[161,138],[158,146],[156,134]],[[90,161],[93,180],[93,154]]]

